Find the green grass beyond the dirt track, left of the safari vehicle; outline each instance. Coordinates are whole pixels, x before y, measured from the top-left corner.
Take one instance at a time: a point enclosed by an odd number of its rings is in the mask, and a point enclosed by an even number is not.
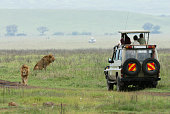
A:
[[[106,50],[107,51],[107,50]],[[35,55],[36,55],[35,51]],[[33,72],[36,62],[43,57],[43,54],[54,53],[56,61],[47,68],[47,71]],[[88,53],[88,54],[87,54]],[[98,54],[97,54],[98,53]],[[106,65],[107,55],[102,58],[100,53],[104,54],[105,50],[77,50],[77,51],[42,51],[37,56],[31,55],[9,55],[1,57],[4,63],[1,64],[2,79],[11,81],[20,81],[20,67],[27,64],[31,69],[29,83],[31,85],[50,86],[50,87],[105,87],[103,81],[103,68]],[[14,67],[15,64],[15,67]],[[8,72],[6,76],[3,74]],[[37,82],[37,80],[39,80]],[[96,83],[97,82],[97,83]]]

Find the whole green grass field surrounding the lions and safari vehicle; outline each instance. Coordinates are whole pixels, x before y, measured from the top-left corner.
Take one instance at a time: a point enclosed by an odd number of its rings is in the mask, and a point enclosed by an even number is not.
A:
[[[111,49],[1,50],[0,79],[21,81],[20,67],[31,73],[28,88],[1,87],[1,113],[169,113],[170,50],[160,49],[161,78],[157,88],[107,91],[104,67]],[[56,61],[46,71],[33,71],[36,62],[52,53]],[[18,107],[8,107],[14,101]],[[53,102],[46,107],[44,102]],[[62,104],[62,106],[61,106]]]

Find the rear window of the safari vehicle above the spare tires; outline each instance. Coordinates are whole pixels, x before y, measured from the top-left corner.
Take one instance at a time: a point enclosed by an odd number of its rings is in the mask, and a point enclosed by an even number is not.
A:
[[[152,58],[153,51],[149,50],[126,50],[126,60],[129,58],[135,58],[140,62],[143,62],[147,58]]]

